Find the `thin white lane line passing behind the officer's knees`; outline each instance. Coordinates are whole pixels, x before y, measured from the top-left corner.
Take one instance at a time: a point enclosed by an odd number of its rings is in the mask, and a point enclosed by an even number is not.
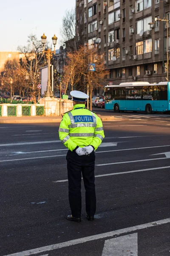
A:
[[[163,166],[163,167],[156,167],[156,168],[149,168],[149,169],[142,169],[142,170],[128,171],[128,172],[113,172],[113,173],[108,173],[108,174],[95,175],[95,178],[107,177],[107,176],[113,176],[113,175],[122,175],[122,174],[134,173],[134,172],[147,172],[147,171],[153,171],[153,170],[159,170],[159,169],[169,169],[169,168],[170,168],[170,166]],[[66,181],[68,181],[68,180],[56,180],[53,182],[54,183],[62,183],[62,182],[66,182]]]

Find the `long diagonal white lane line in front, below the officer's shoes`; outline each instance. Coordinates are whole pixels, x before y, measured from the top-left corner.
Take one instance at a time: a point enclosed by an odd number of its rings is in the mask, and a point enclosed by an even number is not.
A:
[[[170,223],[170,218],[167,218],[167,219],[163,219],[163,220],[159,220],[159,221],[153,221],[153,222],[149,222],[149,223],[145,223],[145,224],[141,224],[141,225],[137,225],[137,226],[133,226],[133,227],[127,227],[127,228],[120,229],[120,230],[114,230],[114,231],[110,231],[107,233],[102,233],[102,234],[98,234],[98,235],[94,235],[94,236],[86,236],[86,237],[82,237],[79,239],[62,242],[59,244],[51,244],[51,245],[47,245],[44,247],[35,248],[32,250],[23,251],[20,253],[12,253],[12,254],[8,254],[8,255],[4,255],[4,256],[30,256],[30,255],[43,253],[43,252],[48,252],[51,250],[60,249],[63,247],[69,247],[69,246],[75,245],[75,244],[82,244],[82,243],[86,243],[89,241],[95,241],[98,239],[106,239],[108,237],[113,237],[113,236],[117,236],[117,235],[121,235],[121,234],[125,234],[125,233],[130,233],[130,232],[146,229],[148,227],[155,227],[155,226],[159,226],[162,224],[169,224],[169,223]]]

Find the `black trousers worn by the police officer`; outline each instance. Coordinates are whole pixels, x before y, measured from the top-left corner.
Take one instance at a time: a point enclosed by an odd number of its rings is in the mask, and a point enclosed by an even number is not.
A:
[[[76,152],[72,152],[69,150],[66,159],[68,170],[68,197],[71,214],[75,218],[81,218],[81,181],[83,177],[85,186],[86,212],[90,217],[93,217],[96,212],[96,192],[94,185],[94,151],[88,156],[78,156]]]

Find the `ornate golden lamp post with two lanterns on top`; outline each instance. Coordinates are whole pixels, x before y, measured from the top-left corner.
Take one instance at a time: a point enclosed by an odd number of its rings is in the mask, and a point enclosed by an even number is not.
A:
[[[52,58],[52,55],[55,54],[55,46],[57,44],[57,37],[55,35],[52,37],[52,41],[53,41],[53,44],[54,44],[54,51],[51,51],[50,48],[48,48],[47,50],[44,50],[44,46],[46,44],[46,39],[47,39],[47,37],[43,34],[41,36],[41,42],[42,42],[42,45],[43,45],[43,53],[45,53],[46,58],[48,59],[48,80],[47,80],[47,90],[46,90],[46,93],[45,93],[45,97],[51,97],[52,96],[52,90],[51,90],[51,80],[50,80],[50,60]]]

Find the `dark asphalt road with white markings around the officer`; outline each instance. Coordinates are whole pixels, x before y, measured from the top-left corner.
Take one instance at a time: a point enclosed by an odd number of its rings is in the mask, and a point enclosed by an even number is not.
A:
[[[115,116],[96,151],[95,220],[82,183],[81,223],[66,220],[59,124],[0,125],[0,256],[170,256],[170,115]]]

